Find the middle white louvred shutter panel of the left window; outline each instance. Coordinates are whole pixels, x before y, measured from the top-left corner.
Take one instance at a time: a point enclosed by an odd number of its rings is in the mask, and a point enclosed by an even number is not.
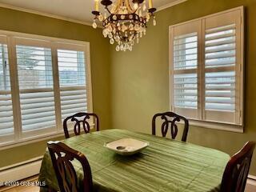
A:
[[[15,38],[22,132],[56,126],[51,49],[48,42]]]

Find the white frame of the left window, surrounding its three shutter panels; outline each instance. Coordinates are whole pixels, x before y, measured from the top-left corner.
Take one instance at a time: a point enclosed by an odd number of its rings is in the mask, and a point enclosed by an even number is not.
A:
[[[55,122],[56,126],[53,130],[47,131],[48,129],[32,130],[35,134],[25,133],[26,137],[22,135],[22,116],[20,110],[20,90],[18,87],[18,65],[16,59],[16,39],[20,38],[18,42],[24,42],[22,45],[31,45],[48,47],[51,51],[52,58],[52,71],[53,71],[53,90],[54,90],[54,105],[55,105]],[[13,31],[0,30],[1,43],[5,42],[8,50],[8,59],[10,67],[10,94],[12,96],[13,116],[14,116],[14,134],[1,135],[0,150],[5,150],[14,146],[22,146],[27,143],[38,142],[50,138],[56,138],[63,135],[62,129],[62,117],[61,117],[61,103],[60,103],[60,89],[58,79],[58,49],[69,49],[83,51],[85,54],[85,69],[86,69],[86,105],[87,111],[93,112],[93,100],[92,100],[92,84],[91,84],[91,70],[90,70],[90,42],[83,42],[78,40],[70,40],[65,38],[52,38],[36,34],[24,34]],[[42,42],[38,43],[38,42]],[[57,82],[57,83],[56,83]],[[58,84],[58,85],[56,85]],[[45,88],[43,88],[45,89]],[[57,107],[56,107],[57,106]],[[91,127],[94,124],[91,122]],[[40,133],[39,135],[37,133]],[[12,139],[13,138],[13,139]]]

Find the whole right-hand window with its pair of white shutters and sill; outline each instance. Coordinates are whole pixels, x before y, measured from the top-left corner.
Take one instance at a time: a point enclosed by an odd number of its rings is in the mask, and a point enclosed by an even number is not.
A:
[[[196,125],[242,131],[242,35],[243,7],[170,26],[171,110]]]

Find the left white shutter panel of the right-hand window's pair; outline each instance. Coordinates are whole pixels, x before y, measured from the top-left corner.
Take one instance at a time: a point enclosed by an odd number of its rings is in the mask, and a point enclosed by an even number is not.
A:
[[[198,118],[198,40],[201,22],[171,28],[171,99],[172,110],[187,118]]]

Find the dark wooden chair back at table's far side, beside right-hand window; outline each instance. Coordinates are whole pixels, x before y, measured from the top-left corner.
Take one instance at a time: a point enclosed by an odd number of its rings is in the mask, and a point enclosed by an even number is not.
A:
[[[162,113],[162,114],[155,114],[153,119],[152,119],[152,134],[155,135],[155,131],[156,131],[156,119],[157,118],[162,118],[162,137],[166,137],[166,134],[168,132],[168,130],[170,129],[170,136],[171,138],[175,139],[177,134],[178,134],[178,126],[177,126],[177,122],[181,122],[181,120],[184,122],[184,130],[183,130],[183,134],[182,134],[182,142],[186,142],[186,137],[187,137],[187,133],[189,131],[189,121],[178,115],[178,114],[174,114],[173,112],[166,112],[166,113]]]

